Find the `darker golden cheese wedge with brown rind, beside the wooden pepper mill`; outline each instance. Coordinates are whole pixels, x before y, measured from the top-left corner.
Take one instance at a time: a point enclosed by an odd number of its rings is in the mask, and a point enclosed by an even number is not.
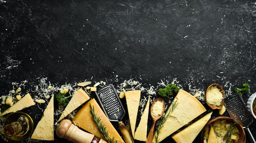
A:
[[[101,124],[104,124],[106,127],[106,131],[108,131],[108,136],[112,139],[117,141],[117,143],[124,143],[123,139],[118,134],[117,130],[114,126],[110,123],[104,112],[101,110],[101,107],[96,102],[95,99],[88,101],[75,115],[74,119],[72,120],[73,124],[87,130],[88,132],[96,135],[97,137],[102,137],[101,131],[98,129],[94,119],[91,115],[91,108],[90,104],[94,107],[94,113],[101,119]]]

